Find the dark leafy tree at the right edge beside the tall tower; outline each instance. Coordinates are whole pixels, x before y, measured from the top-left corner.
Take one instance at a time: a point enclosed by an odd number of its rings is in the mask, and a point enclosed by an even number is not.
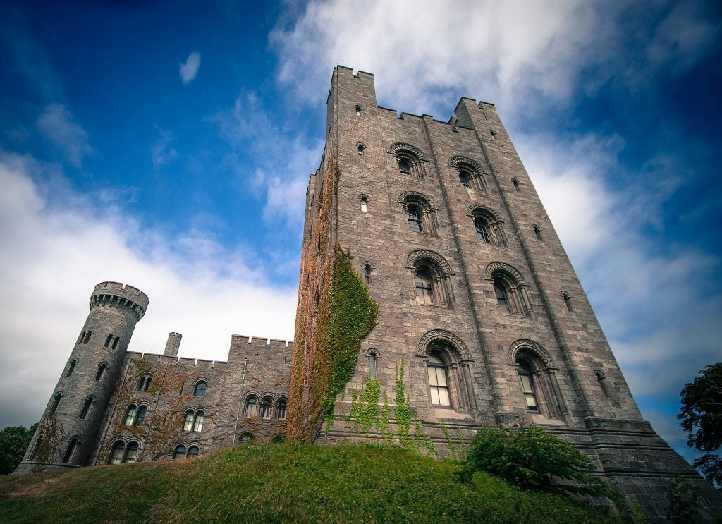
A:
[[[705,479],[722,485],[722,458],[715,452],[722,447],[722,362],[710,364],[700,376],[679,393],[682,409],[677,418],[686,431],[687,445],[706,452],[693,463]]]

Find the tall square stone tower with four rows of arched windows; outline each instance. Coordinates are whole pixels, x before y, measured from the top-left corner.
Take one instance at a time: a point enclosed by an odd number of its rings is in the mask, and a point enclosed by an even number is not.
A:
[[[588,453],[651,517],[666,515],[667,481],[680,475],[720,510],[642,418],[494,105],[462,98],[449,121],[397,115],[376,104],[372,74],[337,66],[327,115],[306,198],[290,393],[297,432],[381,440],[378,424],[354,419],[354,404],[378,378],[393,413],[403,366],[412,425],[439,448],[444,426],[458,440],[483,425],[539,424]],[[318,341],[329,338],[324,304],[336,303],[335,246],[352,254],[378,316],[314,434],[316,383],[334,359]],[[399,435],[399,421],[388,422]]]

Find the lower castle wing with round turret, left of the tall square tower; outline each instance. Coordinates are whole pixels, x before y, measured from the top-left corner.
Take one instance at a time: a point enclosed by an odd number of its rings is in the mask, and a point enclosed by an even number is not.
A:
[[[103,282],[14,474],[185,458],[284,437],[292,341],[233,335],[228,362],[127,351],[148,297]],[[57,399],[57,400],[56,400]]]

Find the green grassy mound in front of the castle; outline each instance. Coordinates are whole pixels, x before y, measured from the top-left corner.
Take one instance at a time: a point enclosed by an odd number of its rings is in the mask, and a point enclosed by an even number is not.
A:
[[[612,523],[604,510],[375,445],[249,444],[206,457],[0,478],[3,523]]]

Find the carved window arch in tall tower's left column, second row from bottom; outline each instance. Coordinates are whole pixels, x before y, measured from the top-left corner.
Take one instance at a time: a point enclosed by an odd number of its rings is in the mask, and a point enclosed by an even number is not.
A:
[[[406,257],[406,268],[413,277],[413,301],[451,307],[454,301],[451,287],[451,266],[443,256],[426,249],[417,249]]]

